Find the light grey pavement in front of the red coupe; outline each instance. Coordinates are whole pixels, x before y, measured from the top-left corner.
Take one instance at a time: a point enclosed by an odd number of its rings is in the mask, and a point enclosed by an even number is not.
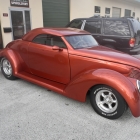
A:
[[[140,118],[97,115],[89,98],[74,101],[0,71],[0,140],[138,140]]]

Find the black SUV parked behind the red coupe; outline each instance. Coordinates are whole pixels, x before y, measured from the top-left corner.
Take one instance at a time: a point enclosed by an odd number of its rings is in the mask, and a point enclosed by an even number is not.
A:
[[[140,23],[133,18],[77,18],[67,27],[90,32],[100,45],[140,54]]]

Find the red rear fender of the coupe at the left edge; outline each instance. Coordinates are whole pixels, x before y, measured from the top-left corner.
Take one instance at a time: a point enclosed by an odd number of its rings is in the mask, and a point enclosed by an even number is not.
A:
[[[9,48],[5,48],[0,52],[0,57],[5,57],[10,61],[13,69],[13,75],[16,76],[17,73],[23,69],[22,59],[15,51]]]

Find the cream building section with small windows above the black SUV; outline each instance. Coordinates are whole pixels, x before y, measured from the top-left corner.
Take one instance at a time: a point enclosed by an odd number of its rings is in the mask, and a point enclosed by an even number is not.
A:
[[[94,15],[140,18],[140,0],[70,0],[70,20]]]

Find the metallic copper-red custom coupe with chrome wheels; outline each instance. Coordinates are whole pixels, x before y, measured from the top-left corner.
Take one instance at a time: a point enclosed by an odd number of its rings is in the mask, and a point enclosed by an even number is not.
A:
[[[117,119],[140,116],[140,60],[100,46],[86,31],[37,28],[0,50],[1,72],[84,102]]]

